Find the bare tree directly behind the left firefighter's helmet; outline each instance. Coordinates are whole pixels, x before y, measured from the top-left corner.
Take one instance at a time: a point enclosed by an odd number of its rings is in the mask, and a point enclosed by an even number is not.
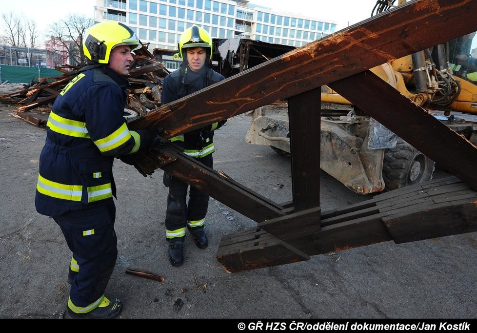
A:
[[[93,19],[85,15],[73,14],[65,20],[50,24],[48,33],[51,40],[47,43],[57,53],[60,62],[64,63],[69,59],[73,65],[84,65],[83,38],[86,29],[94,23]]]

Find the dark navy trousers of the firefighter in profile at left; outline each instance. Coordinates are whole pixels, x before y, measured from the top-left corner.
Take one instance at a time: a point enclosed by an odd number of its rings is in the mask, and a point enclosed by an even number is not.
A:
[[[70,299],[77,307],[87,307],[106,290],[118,255],[115,218],[114,203],[53,216],[78,262],[70,289]]]

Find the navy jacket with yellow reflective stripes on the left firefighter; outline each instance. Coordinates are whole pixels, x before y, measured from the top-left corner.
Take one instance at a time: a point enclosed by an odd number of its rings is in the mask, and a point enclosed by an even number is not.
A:
[[[116,197],[115,156],[148,145],[147,131],[130,131],[124,106],[127,80],[107,66],[80,72],[53,104],[40,154],[35,206],[61,215]]]

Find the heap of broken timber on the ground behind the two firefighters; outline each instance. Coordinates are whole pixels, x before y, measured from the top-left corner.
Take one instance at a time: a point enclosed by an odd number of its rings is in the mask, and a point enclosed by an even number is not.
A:
[[[169,71],[163,62],[154,59],[147,50],[147,45],[134,52],[132,69],[128,76],[129,98],[125,113],[139,116],[160,106],[161,80]],[[64,69],[65,67],[68,70]],[[65,67],[56,67],[63,72],[61,76],[42,78],[39,82],[32,82],[28,88],[0,96],[0,103],[17,105],[15,117],[39,127],[46,127],[53,102],[64,86],[78,74],[78,67]]]

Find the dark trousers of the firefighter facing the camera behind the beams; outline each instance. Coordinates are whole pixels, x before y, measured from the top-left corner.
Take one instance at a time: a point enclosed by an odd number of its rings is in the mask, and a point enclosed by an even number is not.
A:
[[[212,154],[196,159],[206,167],[213,167],[214,160]],[[167,195],[167,209],[165,225],[167,230],[177,230],[186,228],[187,221],[198,221],[205,218],[209,207],[209,196],[197,188],[190,186],[189,202],[187,203],[187,189],[189,184],[180,181],[178,178],[164,172],[164,185],[169,187]],[[193,228],[203,229],[204,227]],[[183,237],[167,238],[167,241],[174,242],[184,240]]]

